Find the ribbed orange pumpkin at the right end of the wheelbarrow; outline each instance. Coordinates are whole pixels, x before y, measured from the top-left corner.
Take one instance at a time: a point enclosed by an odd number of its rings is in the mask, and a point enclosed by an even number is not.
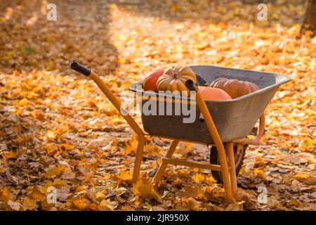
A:
[[[232,98],[238,98],[259,89],[258,86],[252,82],[244,82],[238,79],[227,79],[223,77],[214,80],[210,86],[226,91]]]

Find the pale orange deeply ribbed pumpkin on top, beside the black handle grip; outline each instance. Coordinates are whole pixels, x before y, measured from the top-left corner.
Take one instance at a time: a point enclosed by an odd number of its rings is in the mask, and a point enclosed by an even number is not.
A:
[[[187,91],[185,82],[192,79],[197,84],[197,76],[189,67],[174,67],[164,71],[157,81],[158,91]]]

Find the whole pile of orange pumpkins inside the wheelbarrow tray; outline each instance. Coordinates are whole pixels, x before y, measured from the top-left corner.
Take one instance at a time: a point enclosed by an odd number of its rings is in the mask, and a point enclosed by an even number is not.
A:
[[[181,91],[187,91],[185,86],[187,79],[195,82],[204,100],[230,100],[259,89],[254,83],[223,77],[207,84],[201,76],[196,75],[189,67],[153,70],[146,75],[143,81],[143,89],[157,93],[158,91],[171,91],[171,93],[180,91],[181,93]]]

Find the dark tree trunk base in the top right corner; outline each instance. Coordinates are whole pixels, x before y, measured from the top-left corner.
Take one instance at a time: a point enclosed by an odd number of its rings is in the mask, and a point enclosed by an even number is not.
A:
[[[301,27],[301,32],[310,30],[316,34],[316,0],[308,0],[305,18]]]

